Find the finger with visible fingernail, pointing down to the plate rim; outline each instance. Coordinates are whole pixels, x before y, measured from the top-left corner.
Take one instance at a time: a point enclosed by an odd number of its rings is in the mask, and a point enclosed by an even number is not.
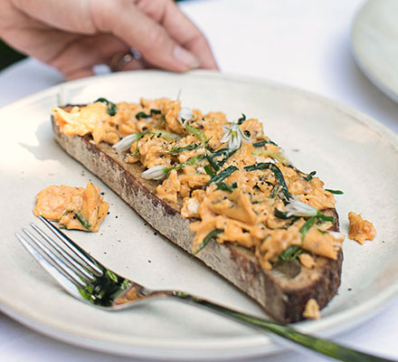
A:
[[[192,52],[176,43],[163,26],[130,0],[102,2],[100,8],[91,8],[91,14],[101,32],[115,34],[141,52],[146,62],[156,67],[169,71],[188,71],[200,65]]]

